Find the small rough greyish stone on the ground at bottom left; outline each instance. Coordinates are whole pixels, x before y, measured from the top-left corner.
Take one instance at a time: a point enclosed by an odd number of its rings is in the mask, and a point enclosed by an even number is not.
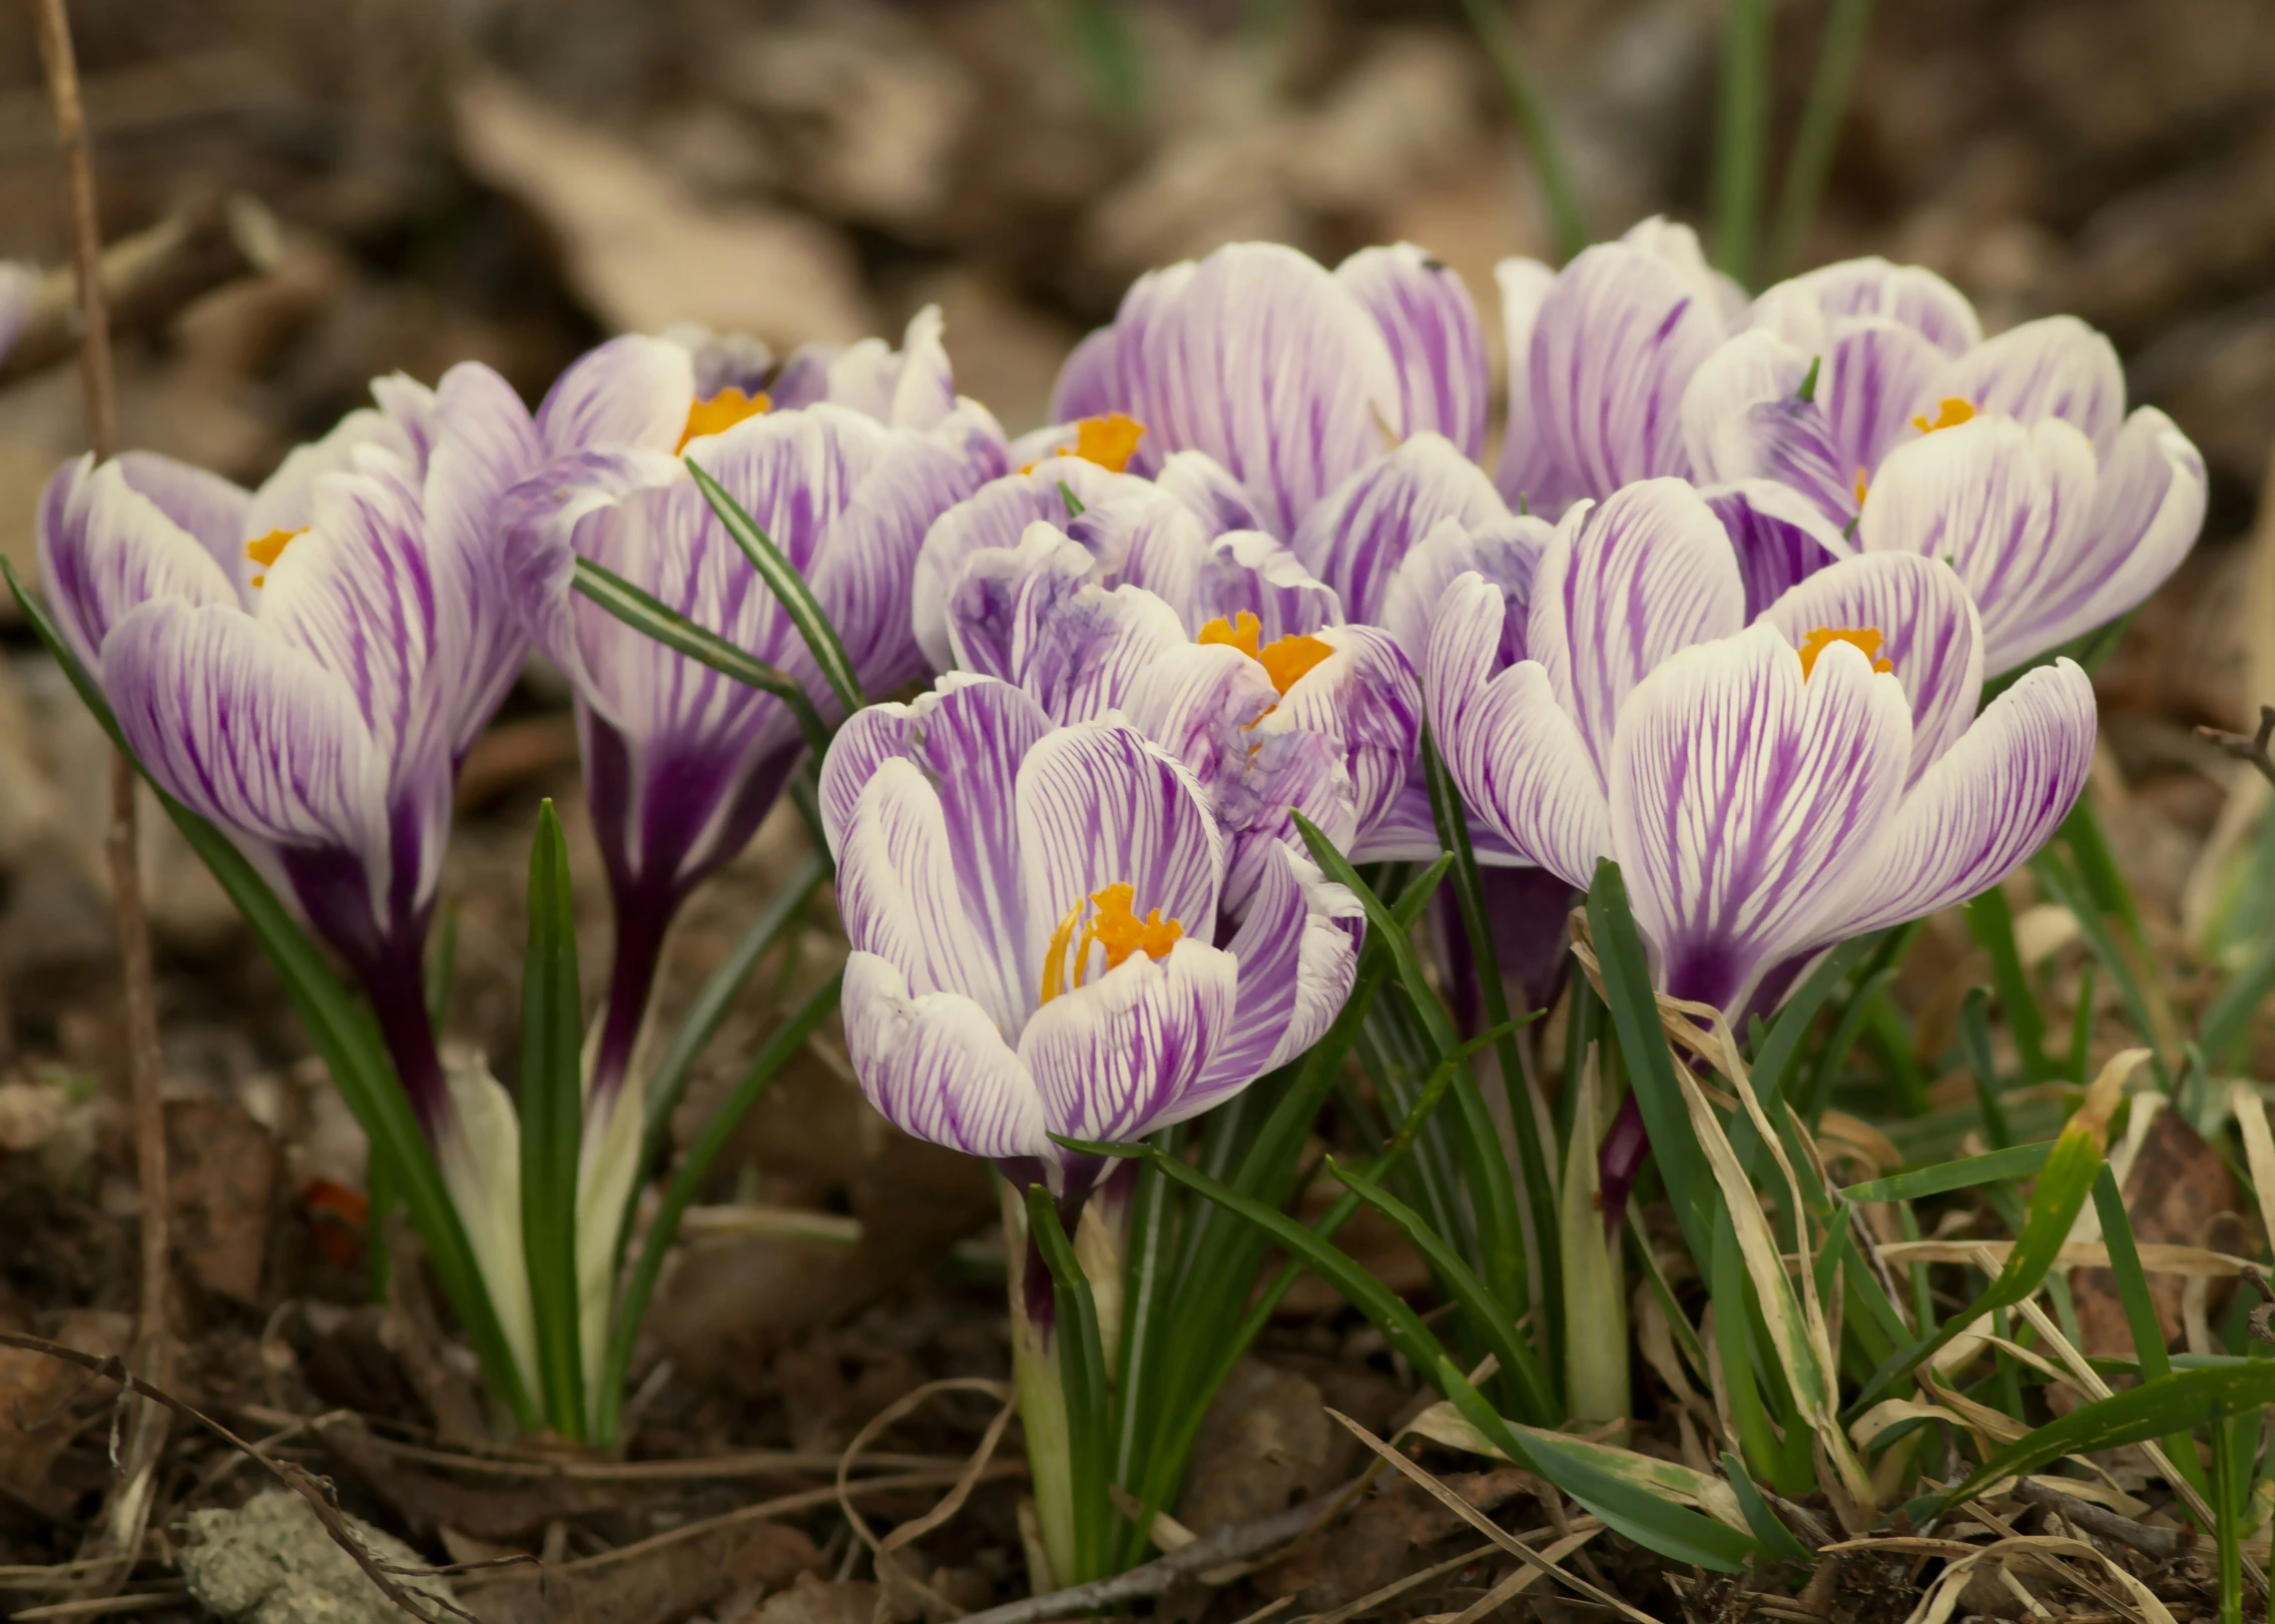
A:
[[[316,1510],[291,1490],[268,1490],[237,1510],[189,1513],[182,1579],[209,1613],[246,1624],[403,1624],[387,1594],[371,1583],[325,1533]],[[425,1560],[403,1540],[348,1517],[364,1542],[405,1590],[450,1599],[439,1579],[412,1579]]]

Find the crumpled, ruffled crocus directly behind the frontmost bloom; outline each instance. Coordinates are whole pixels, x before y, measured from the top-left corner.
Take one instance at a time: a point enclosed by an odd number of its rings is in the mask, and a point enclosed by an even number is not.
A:
[[[1019,546],[965,557],[946,591],[956,664],[1017,685],[1056,723],[1119,712],[1178,757],[1228,839],[1231,917],[1279,846],[1299,839],[1294,812],[1340,851],[1379,855],[1374,830],[1399,803],[1422,730],[1420,680],[1390,635],[1342,625],[1324,589],[1281,591],[1238,546],[1208,555],[1222,596],[1194,607],[1181,591],[1178,614],[1140,585],[1149,575],[1133,550],[1085,523],[1103,512],[1067,521],[1081,539],[1037,519]],[[1263,532],[1240,539],[1285,553]],[[1103,585],[1115,575],[1124,585]]]

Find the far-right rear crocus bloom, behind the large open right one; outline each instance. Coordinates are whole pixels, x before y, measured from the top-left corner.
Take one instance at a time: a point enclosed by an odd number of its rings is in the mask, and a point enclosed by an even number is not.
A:
[[[2164,412],[2127,416],[2109,339],[2045,316],[1986,341],[1920,266],[1779,282],[1681,416],[1699,475],[1790,487],[1831,553],[1950,560],[1993,673],[2138,605],[2204,521],[2204,459]]]

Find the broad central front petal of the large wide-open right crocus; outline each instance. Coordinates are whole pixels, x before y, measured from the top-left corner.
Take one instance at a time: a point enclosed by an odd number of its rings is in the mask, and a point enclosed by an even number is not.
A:
[[[1815,944],[1895,812],[1909,753],[1904,689],[1852,644],[1825,648],[1806,680],[1772,625],[1658,666],[1620,716],[1611,826],[1665,992],[1736,1014]]]

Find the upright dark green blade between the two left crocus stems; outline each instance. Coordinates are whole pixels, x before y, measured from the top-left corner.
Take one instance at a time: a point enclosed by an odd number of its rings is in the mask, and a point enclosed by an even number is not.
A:
[[[569,846],[546,801],[530,844],[530,939],[521,960],[521,1253],[537,1324],[546,1424],[585,1437],[576,1290],[578,1151],[585,1137],[585,1010],[576,973]],[[614,1103],[614,1101],[612,1101]]]

